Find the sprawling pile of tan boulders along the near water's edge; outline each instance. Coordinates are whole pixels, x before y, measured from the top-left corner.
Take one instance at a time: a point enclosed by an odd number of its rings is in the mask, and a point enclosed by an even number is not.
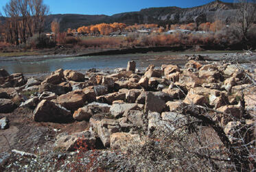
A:
[[[154,131],[174,130],[173,121],[186,122],[183,109],[188,105],[221,112],[214,119],[226,128],[226,134],[231,134],[231,127],[240,125],[239,121],[253,121],[250,113],[255,113],[256,101],[246,98],[256,95],[253,73],[235,64],[202,65],[195,60],[187,62],[184,69],[150,65],[143,74],[135,72],[133,61],[126,70],[112,74],[59,69],[43,81],[25,79],[21,73],[9,75],[1,69],[0,113],[18,107],[12,99],[19,97],[19,91],[36,90],[27,101],[20,99],[21,106],[34,109],[34,121],[89,121],[90,131],[58,136],[56,145],[70,151],[79,136],[92,147],[96,137],[104,147],[113,149],[123,149],[129,140],[143,143],[135,127],[146,128],[148,136]]]

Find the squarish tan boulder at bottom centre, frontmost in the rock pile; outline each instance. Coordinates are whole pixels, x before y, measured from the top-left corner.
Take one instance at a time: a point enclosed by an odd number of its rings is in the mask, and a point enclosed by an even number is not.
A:
[[[122,151],[128,150],[135,145],[143,145],[139,134],[129,134],[125,132],[117,132],[110,136],[110,148],[121,149]]]

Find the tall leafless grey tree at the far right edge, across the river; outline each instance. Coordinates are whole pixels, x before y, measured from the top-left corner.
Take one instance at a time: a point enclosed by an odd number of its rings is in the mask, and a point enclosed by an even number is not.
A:
[[[237,29],[242,34],[244,42],[248,41],[248,31],[256,23],[256,0],[235,0],[237,8]]]

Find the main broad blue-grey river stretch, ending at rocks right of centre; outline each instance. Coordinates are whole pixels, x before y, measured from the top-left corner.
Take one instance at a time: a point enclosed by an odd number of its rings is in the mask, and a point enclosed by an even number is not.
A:
[[[127,62],[134,60],[137,68],[145,68],[149,64],[161,66],[161,64],[185,64],[185,60],[172,58],[167,54],[132,54],[116,56],[84,56],[69,58],[54,58],[47,60],[10,60],[0,61],[0,69],[8,73],[45,73],[57,69],[87,70],[87,69],[116,69],[126,68]]]

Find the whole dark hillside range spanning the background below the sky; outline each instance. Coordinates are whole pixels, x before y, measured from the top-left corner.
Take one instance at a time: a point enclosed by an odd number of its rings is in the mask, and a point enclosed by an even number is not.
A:
[[[146,8],[140,10],[139,12],[124,12],[114,14],[113,16],[51,14],[46,18],[45,29],[47,32],[49,32],[51,22],[54,20],[60,22],[61,31],[67,30],[67,28],[78,28],[82,25],[113,22],[126,23],[127,25],[133,25],[135,23],[156,23],[159,25],[166,25],[174,23],[191,23],[194,21],[205,23],[207,21],[212,22],[218,18],[229,23],[232,21],[232,16],[234,16],[233,14],[233,3],[213,1],[194,8]],[[4,21],[4,18],[0,20]]]

